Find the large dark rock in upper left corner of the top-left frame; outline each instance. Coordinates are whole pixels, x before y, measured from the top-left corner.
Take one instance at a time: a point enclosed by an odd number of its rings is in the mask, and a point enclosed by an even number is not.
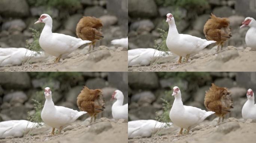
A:
[[[26,0],[1,0],[0,13],[3,16],[25,17],[29,15]]]

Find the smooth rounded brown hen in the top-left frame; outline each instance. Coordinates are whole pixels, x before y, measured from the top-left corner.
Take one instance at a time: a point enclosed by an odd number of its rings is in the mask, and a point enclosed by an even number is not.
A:
[[[92,41],[89,45],[89,51],[94,49],[97,40],[103,38],[101,33],[102,26],[100,19],[91,16],[83,16],[77,23],[76,35],[82,40]]]

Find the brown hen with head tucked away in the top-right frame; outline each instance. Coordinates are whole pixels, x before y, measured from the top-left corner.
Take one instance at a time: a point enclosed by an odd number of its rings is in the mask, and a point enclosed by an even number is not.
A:
[[[204,25],[204,35],[207,40],[216,41],[217,51],[220,51],[224,42],[231,38],[231,28],[228,18],[218,18],[211,13],[211,19]]]

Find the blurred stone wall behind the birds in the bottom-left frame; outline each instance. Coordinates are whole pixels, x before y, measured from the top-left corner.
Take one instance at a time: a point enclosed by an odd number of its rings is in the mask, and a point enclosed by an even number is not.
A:
[[[124,103],[128,102],[126,72],[1,72],[0,79],[0,121],[27,120],[33,116],[36,103],[32,99],[44,105],[45,87],[51,88],[55,105],[78,111],[76,101],[83,86],[102,89],[106,109],[97,119],[113,118],[111,107],[116,100],[110,99],[116,89],[124,93]],[[82,120],[88,117],[84,115]]]

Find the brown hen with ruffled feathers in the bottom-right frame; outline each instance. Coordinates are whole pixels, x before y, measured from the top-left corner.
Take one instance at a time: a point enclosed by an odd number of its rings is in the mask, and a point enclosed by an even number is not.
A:
[[[204,106],[208,111],[215,112],[219,117],[218,123],[221,117],[223,122],[225,115],[234,108],[231,92],[227,88],[218,87],[212,83],[210,90],[205,93]]]

